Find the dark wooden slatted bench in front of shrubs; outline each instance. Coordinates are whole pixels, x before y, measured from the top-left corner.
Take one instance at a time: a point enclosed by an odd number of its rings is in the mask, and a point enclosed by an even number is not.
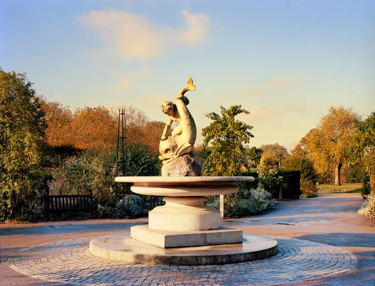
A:
[[[90,212],[91,217],[98,217],[98,203],[92,195],[49,195],[43,196],[44,218],[49,214],[67,214],[68,212]]]

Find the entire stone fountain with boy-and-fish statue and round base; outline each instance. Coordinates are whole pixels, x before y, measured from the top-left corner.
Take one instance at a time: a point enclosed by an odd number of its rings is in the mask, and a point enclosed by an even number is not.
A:
[[[159,145],[162,176],[115,178],[116,182],[132,182],[134,193],[164,196],[165,205],[148,212],[148,225],[132,226],[130,236],[93,239],[93,255],[129,263],[206,265],[263,259],[278,252],[274,239],[222,227],[220,212],[204,204],[205,196],[235,193],[237,182],[254,178],[200,176],[201,167],[193,154],[196,126],[185,96],[195,89],[189,77],[176,103],[162,105],[168,115]],[[167,137],[174,121],[178,126]]]

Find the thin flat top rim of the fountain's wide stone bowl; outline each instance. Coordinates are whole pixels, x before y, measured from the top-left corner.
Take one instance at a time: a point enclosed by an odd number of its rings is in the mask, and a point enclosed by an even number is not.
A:
[[[224,176],[195,176],[195,177],[162,177],[162,176],[129,176],[116,177],[115,182],[126,183],[237,183],[237,182],[254,182],[254,177],[224,177]]]

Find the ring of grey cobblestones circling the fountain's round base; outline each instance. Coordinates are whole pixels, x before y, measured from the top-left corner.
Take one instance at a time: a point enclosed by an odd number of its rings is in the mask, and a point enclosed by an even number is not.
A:
[[[15,271],[46,281],[100,286],[277,285],[356,268],[356,256],[342,248],[294,238],[272,238],[278,241],[277,255],[226,265],[141,265],[100,259],[89,252],[92,238],[24,248],[7,263]]]

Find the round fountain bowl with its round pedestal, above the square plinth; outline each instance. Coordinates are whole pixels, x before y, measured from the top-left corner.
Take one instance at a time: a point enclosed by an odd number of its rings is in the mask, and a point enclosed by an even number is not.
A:
[[[162,231],[205,231],[220,228],[220,212],[204,204],[204,196],[235,193],[238,182],[253,177],[116,177],[132,182],[134,193],[164,196],[165,205],[148,213],[148,229]],[[133,236],[135,237],[135,230]]]

